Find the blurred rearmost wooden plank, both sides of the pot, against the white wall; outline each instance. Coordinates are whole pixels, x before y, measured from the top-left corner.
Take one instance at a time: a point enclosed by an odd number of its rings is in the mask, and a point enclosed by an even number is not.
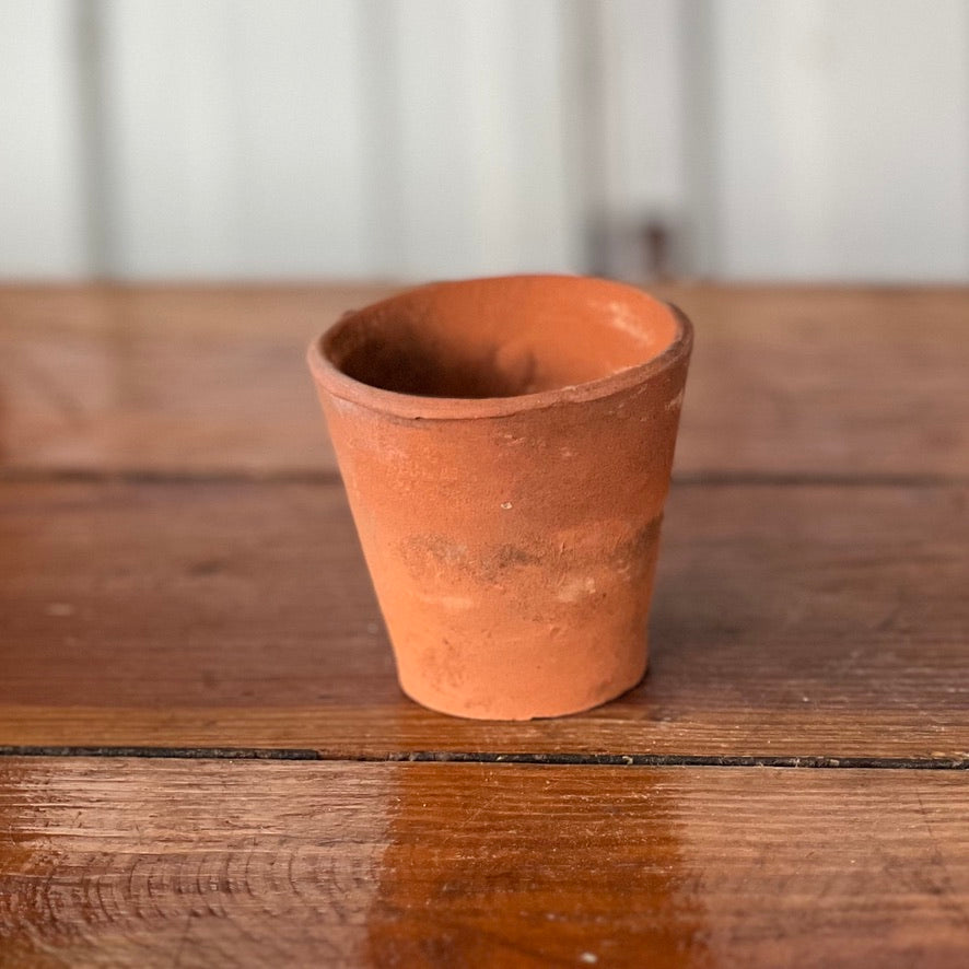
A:
[[[334,468],[303,348],[386,287],[0,289],[9,468]],[[969,290],[668,285],[680,474],[969,475]]]

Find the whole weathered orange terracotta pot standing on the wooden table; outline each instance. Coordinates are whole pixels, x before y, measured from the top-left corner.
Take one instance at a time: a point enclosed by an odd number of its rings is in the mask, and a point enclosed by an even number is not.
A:
[[[407,694],[527,720],[639,681],[691,345],[638,289],[519,276],[410,290],[311,346]]]

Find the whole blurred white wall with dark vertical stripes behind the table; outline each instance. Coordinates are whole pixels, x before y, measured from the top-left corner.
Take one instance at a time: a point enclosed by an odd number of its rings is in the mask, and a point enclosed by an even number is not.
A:
[[[0,278],[965,281],[969,0],[0,0]]]

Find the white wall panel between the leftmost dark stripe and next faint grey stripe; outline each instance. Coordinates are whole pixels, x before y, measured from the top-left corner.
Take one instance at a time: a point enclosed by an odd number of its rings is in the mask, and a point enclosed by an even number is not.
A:
[[[370,270],[361,5],[102,10],[113,271]]]

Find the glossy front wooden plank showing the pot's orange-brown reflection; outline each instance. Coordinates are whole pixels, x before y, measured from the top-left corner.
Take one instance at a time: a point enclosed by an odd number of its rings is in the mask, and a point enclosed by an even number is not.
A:
[[[967,812],[959,771],[9,758],[4,964],[962,967]]]

